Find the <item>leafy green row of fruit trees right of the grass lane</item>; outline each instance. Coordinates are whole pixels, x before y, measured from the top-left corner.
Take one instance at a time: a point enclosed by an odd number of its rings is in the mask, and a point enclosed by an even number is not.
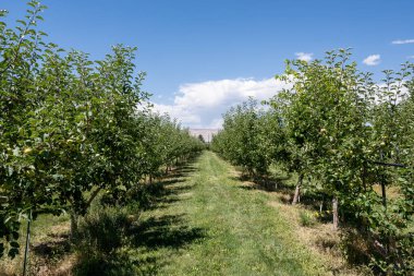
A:
[[[333,226],[343,226],[349,243],[353,237],[364,240],[377,273],[409,274],[414,269],[414,65],[385,71],[378,84],[350,59],[341,49],[324,60],[288,61],[277,76],[288,88],[264,103],[267,108],[251,99],[230,109],[211,146],[256,179],[266,179],[275,165],[295,173],[293,204],[301,190],[321,204],[329,201]]]

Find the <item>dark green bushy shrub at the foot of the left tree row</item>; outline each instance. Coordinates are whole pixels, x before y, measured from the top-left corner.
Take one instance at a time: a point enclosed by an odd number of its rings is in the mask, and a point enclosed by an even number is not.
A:
[[[94,206],[94,212],[80,224],[74,275],[136,275],[134,263],[125,252],[131,218],[134,215],[125,206]]]

